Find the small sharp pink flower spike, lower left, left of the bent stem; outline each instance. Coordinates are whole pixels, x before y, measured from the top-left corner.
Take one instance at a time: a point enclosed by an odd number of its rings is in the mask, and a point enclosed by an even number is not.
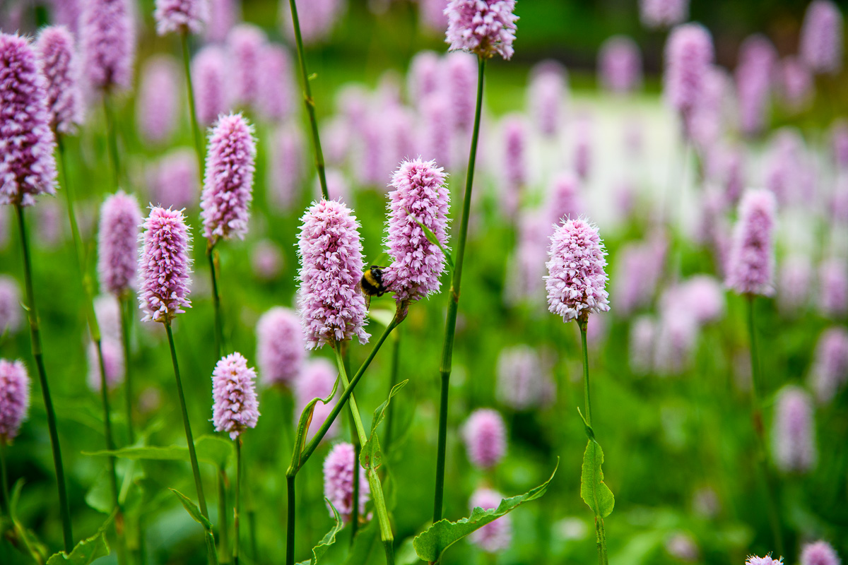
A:
[[[215,431],[228,432],[235,440],[245,429],[255,428],[259,419],[256,371],[241,353],[221,357],[212,372],[212,422]]]

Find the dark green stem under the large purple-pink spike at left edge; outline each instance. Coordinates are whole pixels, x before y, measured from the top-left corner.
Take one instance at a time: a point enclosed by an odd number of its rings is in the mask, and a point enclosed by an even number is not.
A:
[[[42,386],[44,397],[44,410],[47,413],[47,430],[50,433],[50,447],[53,450],[53,468],[56,469],[56,483],[59,487],[59,512],[62,514],[62,535],[64,538],[64,551],[69,553],[74,549],[74,534],[70,522],[70,506],[68,505],[68,493],[64,484],[64,467],[62,465],[62,450],[59,446],[59,429],[56,426],[56,412],[53,410],[53,399],[47,385],[47,370],[44,368],[44,355],[42,353],[42,338],[38,328],[38,312],[36,311],[36,296],[32,289],[32,264],[30,258],[30,244],[26,235],[26,223],[24,208],[20,204],[15,205],[18,215],[18,228],[20,230],[20,246],[24,257],[24,280],[26,287],[26,312],[30,321],[30,337],[32,346],[32,357],[35,358],[38,370],[38,380]]]

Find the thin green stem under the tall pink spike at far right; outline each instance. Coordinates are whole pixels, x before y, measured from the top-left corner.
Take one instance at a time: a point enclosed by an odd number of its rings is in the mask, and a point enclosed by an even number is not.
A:
[[[763,485],[766,490],[766,501],[768,504],[768,521],[772,529],[774,549],[778,555],[784,555],[784,536],[780,528],[780,516],[778,510],[777,496],[774,493],[774,480],[766,462],[766,438],[765,427],[762,422],[762,407],[758,390],[762,387],[762,374],[760,367],[760,352],[756,342],[756,304],[754,295],[747,296],[748,302],[748,336],[750,338],[750,418],[756,435],[756,463],[762,475]]]

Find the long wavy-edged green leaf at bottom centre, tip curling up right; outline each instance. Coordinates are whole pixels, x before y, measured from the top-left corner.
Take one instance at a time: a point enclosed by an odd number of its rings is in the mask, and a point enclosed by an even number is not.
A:
[[[556,467],[558,468],[559,466],[560,460],[557,458]],[[416,535],[416,539],[412,542],[412,546],[415,547],[418,557],[421,557],[423,561],[438,562],[442,558],[444,550],[453,546],[457,541],[466,537],[466,535],[483,528],[487,523],[494,522],[494,520],[515,510],[516,507],[521,506],[524,502],[534,501],[543,496],[545,491],[548,490],[548,485],[554,479],[555,474],[556,468],[554,468],[554,472],[550,475],[550,479],[544,481],[544,483],[534,489],[527,490],[523,495],[505,498],[500,501],[497,508],[492,508],[491,510],[474,508],[471,511],[471,516],[462,518],[458,522],[439,520],[437,523],[432,524],[423,533]]]

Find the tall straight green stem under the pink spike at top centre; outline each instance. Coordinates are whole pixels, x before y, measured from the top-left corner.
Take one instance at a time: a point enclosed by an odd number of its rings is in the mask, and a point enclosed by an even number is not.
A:
[[[450,302],[448,316],[444,324],[444,344],[442,346],[442,361],[438,372],[442,378],[442,390],[438,412],[438,451],[436,454],[436,490],[433,496],[432,521],[442,519],[444,501],[444,463],[448,437],[448,389],[451,363],[454,357],[454,338],[456,335],[456,314],[460,307],[460,284],[462,282],[462,264],[466,254],[466,239],[468,237],[468,218],[471,213],[471,188],[474,185],[474,163],[477,161],[477,139],[480,136],[480,114],[483,111],[483,74],[486,70],[486,59],[477,57],[477,109],[474,112],[474,130],[471,134],[471,152],[468,155],[466,170],[466,195],[462,203],[462,219],[460,222],[460,241],[456,247],[454,276],[450,282]]]

